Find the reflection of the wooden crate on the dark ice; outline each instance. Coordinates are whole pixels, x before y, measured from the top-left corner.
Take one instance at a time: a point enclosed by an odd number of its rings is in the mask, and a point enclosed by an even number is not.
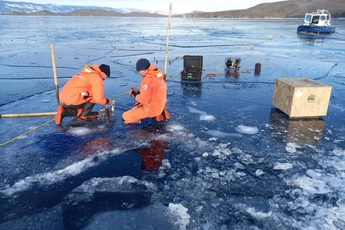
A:
[[[319,146],[325,120],[322,118],[289,118],[279,109],[271,109],[270,124],[282,133],[286,142]]]

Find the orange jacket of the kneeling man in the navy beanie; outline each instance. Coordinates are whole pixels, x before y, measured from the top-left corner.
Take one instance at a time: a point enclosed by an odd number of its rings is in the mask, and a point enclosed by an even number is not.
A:
[[[140,94],[135,99],[143,104],[148,117],[156,117],[162,113],[167,100],[167,85],[163,73],[154,64],[143,74],[140,83]]]

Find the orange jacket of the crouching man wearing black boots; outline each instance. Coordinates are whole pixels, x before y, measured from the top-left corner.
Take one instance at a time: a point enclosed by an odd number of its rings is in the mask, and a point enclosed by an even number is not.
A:
[[[60,101],[67,106],[79,105],[91,100],[93,103],[106,104],[103,84],[102,72],[98,66],[85,65],[81,72],[69,79],[62,87],[59,94]]]

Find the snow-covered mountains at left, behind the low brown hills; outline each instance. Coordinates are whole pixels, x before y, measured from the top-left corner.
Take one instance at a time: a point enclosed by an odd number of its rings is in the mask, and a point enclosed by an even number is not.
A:
[[[55,5],[55,4],[36,4],[30,2],[11,2],[11,1],[0,1],[0,13],[9,13],[11,11],[18,12],[36,12],[36,11],[51,11],[53,13],[67,13],[73,10],[85,10],[85,9],[102,9],[109,11],[116,11],[119,13],[131,13],[131,12],[142,12],[142,13],[157,13],[162,15],[168,15],[165,12],[157,10],[139,10],[132,8],[111,8],[111,7],[95,7],[95,6],[64,6],[64,5]]]

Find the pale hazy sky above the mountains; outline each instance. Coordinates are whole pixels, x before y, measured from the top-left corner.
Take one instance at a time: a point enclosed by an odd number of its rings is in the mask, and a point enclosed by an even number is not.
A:
[[[169,3],[172,3],[172,12],[185,13],[193,10],[221,11],[246,9],[263,2],[277,2],[282,0],[9,0],[13,2],[33,2],[40,4],[58,4],[70,6],[100,6],[112,8],[136,8],[141,10],[159,10],[169,12]]]

